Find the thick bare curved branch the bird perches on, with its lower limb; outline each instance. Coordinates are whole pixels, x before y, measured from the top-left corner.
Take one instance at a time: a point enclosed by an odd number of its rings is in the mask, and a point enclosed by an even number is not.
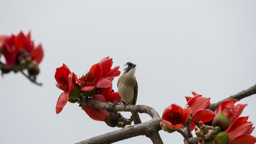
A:
[[[143,122],[141,124],[136,124],[133,126],[128,126],[126,128],[122,128],[120,130],[115,130],[113,132],[109,132],[106,134],[102,134],[100,136],[96,136],[94,138],[90,138],[88,140],[84,140],[78,142],[77,144],[109,144],[113,142],[118,142],[120,140],[124,140],[127,138],[132,138],[135,136],[145,135],[151,139],[153,144],[163,144],[161,137],[158,133],[162,128],[160,127],[161,118],[157,111],[149,106],[144,105],[117,105],[114,108],[113,104],[108,102],[99,102],[97,100],[78,100],[78,103],[81,106],[89,106],[92,108],[98,108],[106,110],[107,112],[139,112],[139,113],[147,113],[152,117],[152,120],[147,122]]]

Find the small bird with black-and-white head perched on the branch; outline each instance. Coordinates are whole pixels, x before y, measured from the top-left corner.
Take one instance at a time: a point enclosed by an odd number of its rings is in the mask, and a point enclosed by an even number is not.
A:
[[[127,62],[124,65],[124,72],[117,82],[118,93],[125,106],[128,104],[135,105],[137,101],[138,84],[135,77],[135,66],[136,64]],[[131,112],[131,114],[134,124],[140,124],[141,120],[138,112]]]

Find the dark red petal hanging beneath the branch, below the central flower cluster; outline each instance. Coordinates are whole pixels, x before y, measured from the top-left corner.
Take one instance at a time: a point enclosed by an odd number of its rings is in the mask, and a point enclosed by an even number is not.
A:
[[[82,108],[85,110],[88,116],[93,120],[104,122],[106,118],[109,118],[109,113],[106,112],[105,110],[95,109],[89,106],[83,106]]]

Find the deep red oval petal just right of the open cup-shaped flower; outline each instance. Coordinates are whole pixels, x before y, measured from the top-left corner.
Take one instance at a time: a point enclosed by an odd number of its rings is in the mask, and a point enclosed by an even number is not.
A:
[[[215,117],[215,113],[211,110],[203,109],[198,111],[193,117],[192,120],[194,122],[209,122]]]

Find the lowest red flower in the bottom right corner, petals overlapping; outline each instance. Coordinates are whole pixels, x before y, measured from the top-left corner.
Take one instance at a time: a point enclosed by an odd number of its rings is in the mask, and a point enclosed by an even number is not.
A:
[[[228,134],[228,144],[254,144],[256,137],[250,135],[255,127],[247,122],[248,116],[236,118],[225,132]]]

